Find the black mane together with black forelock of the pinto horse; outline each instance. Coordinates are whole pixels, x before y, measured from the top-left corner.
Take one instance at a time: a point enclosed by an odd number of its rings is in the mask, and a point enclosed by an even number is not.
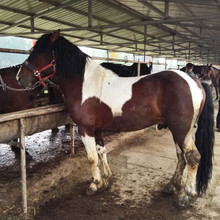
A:
[[[88,55],[62,36],[59,36],[51,45],[51,35],[45,34],[39,38],[32,52],[33,55],[42,53],[50,54],[54,51],[57,73],[61,78],[83,78]]]

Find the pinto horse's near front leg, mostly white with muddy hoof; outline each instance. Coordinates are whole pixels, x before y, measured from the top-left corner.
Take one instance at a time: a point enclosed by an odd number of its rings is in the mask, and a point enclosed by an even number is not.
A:
[[[89,163],[91,165],[93,181],[86,190],[86,195],[94,195],[99,189],[103,188],[103,181],[98,167],[99,157],[96,150],[95,135],[91,131],[79,128],[79,134],[85,146]]]

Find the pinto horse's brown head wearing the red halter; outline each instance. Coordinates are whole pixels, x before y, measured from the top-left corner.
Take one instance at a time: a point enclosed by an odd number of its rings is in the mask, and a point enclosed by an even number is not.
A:
[[[30,87],[37,81],[43,86],[48,78],[56,72],[56,63],[53,51],[53,43],[59,37],[60,32],[41,36],[26,61],[17,73],[17,80],[22,86]]]

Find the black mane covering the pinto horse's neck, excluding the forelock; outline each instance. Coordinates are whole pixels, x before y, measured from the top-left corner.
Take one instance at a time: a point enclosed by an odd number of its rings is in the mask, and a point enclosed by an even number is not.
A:
[[[53,49],[57,72],[63,79],[83,78],[87,54],[62,36],[54,42]]]

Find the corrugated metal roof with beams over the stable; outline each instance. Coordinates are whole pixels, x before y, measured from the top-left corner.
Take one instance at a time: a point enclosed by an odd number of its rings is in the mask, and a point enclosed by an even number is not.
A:
[[[61,29],[80,46],[219,64],[219,12],[217,0],[2,0],[0,36]]]

